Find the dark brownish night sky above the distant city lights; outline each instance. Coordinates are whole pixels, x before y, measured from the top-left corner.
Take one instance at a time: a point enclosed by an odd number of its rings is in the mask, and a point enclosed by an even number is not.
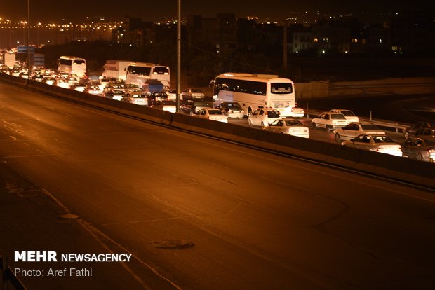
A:
[[[13,22],[27,20],[27,0],[0,0],[0,4],[0,17],[4,20],[6,18]],[[283,19],[289,16],[290,12],[307,10],[322,13],[361,13],[361,11],[384,13],[411,10],[431,12],[434,11],[434,7],[434,1],[420,0],[182,0],[182,16],[214,17],[217,13],[235,13],[241,18],[254,15],[260,19]],[[140,17],[145,21],[156,21],[175,17],[176,9],[176,0],[30,0],[30,20],[31,22],[58,22],[65,19],[71,22],[82,22],[86,16],[105,16],[113,20],[123,20],[124,16],[128,15]]]

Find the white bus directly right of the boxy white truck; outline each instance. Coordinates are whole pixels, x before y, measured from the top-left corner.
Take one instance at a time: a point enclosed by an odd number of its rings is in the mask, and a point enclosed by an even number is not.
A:
[[[126,83],[133,83],[142,88],[148,80],[160,81],[164,88],[169,88],[169,67],[150,64],[148,62],[135,62],[128,65],[126,71]]]

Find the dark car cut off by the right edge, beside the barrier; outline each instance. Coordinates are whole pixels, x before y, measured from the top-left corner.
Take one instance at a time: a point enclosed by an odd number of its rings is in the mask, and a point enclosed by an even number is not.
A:
[[[421,138],[407,139],[401,144],[403,157],[435,162],[435,141]]]

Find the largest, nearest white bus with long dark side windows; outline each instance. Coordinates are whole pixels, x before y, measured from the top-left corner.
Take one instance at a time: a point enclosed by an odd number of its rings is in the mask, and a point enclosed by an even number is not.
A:
[[[225,73],[213,81],[213,106],[222,102],[238,102],[246,114],[271,107],[281,117],[303,117],[296,107],[293,81],[274,75]]]

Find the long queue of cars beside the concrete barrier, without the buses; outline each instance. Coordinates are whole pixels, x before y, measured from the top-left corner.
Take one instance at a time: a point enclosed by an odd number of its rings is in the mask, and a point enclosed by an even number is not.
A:
[[[31,78],[34,81],[87,92],[101,97],[116,99],[121,102],[149,106],[175,113],[177,92],[164,89],[161,92],[144,92],[138,85],[124,84],[119,80],[101,78],[99,81],[83,80],[75,75],[51,70],[35,70],[28,76],[24,69],[8,71],[12,76]],[[215,108],[204,101],[204,93],[199,89],[189,88],[180,94],[182,103],[180,112],[196,118],[205,118],[228,123],[229,118],[243,120],[246,113],[237,102],[222,102]],[[299,108],[296,108],[299,109]],[[294,112],[295,117],[303,117],[304,111]],[[297,118],[282,118],[279,109],[259,107],[248,113],[248,126],[279,134],[309,138],[310,128]],[[361,150],[387,153],[394,156],[435,162],[435,123],[419,122],[403,130],[406,141],[399,144],[377,125],[362,122],[349,109],[330,109],[310,120],[312,128],[321,128],[332,132],[335,141],[342,146]]]

